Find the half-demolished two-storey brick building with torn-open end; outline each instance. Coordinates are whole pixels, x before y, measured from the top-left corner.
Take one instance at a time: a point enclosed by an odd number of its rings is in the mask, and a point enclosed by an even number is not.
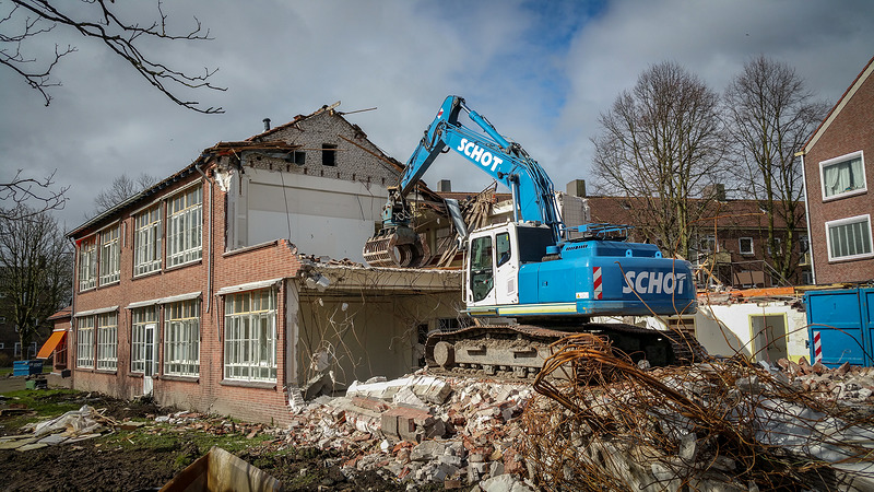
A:
[[[400,168],[326,106],[76,227],[73,387],[282,423],[309,380],[415,368],[460,274],[356,263]]]

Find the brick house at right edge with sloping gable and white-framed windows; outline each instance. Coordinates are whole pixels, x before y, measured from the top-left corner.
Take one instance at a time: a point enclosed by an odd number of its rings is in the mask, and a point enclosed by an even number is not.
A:
[[[874,58],[804,144],[805,194],[818,284],[874,280]],[[867,159],[866,159],[867,157]]]

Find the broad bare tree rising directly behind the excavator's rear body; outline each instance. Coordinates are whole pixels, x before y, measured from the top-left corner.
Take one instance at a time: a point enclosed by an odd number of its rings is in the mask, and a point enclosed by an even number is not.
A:
[[[707,185],[722,178],[719,95],[674,62],[643,71],[600,115],[593,174],[599,191],[626,200],[635,226],[670,255],[688,258]]]

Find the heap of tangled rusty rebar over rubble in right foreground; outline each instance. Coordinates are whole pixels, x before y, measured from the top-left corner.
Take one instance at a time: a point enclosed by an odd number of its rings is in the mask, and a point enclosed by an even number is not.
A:
[[[645,371],[589,333],[554,349],[523,418],[522,452],[539,487],[874,488],[874,420],[835,391],[812,396],[810,375],[793,383],[735,360]]]

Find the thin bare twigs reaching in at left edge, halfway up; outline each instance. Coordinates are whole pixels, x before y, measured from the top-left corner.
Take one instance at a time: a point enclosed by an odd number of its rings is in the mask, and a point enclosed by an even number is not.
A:
[[[0,219],[26,219],[22,213],[37,214],[47,210],[60,210],[67,203],[64,194],[69,186],[57,188],[55,173],[44,179],[22,176],[22,169],[9,181],[0,183]],[[34,206],[34,203],[37,203]],[[28,204],[28,207],[20,207]]]

